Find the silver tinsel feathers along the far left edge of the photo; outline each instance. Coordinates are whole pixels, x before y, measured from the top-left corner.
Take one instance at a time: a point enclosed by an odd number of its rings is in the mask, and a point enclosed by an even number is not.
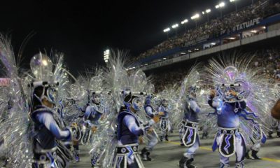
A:
[[[1,154],[9,158],[8,164],[11,167],[31,167],[33,153],[27,99],[10,38],[3,34],[0,34],[0,59],[6,77],[10,78],[8,96],[13,101],[13,106],[7,111],[6,120],[1,120],[0,123],[0,138],[3,141],[3,148],[6,148],[6,153]]]

